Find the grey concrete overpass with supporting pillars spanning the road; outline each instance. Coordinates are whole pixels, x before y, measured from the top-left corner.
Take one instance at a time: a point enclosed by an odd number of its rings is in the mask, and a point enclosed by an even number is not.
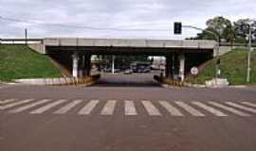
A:
[[[217,54],[214,41],[45,38],[29,46],[66,64],[73,76],[90,75],[92,55],[151,55],[166,57],[166,76],[177,71],[183,79],[192,66]]]

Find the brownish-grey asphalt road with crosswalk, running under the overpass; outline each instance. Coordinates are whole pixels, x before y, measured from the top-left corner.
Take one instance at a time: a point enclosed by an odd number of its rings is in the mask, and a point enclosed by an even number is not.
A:
[[[254,88],[165,89],[131,77],[88,88],[3,86],[0,150],[256,150]]]

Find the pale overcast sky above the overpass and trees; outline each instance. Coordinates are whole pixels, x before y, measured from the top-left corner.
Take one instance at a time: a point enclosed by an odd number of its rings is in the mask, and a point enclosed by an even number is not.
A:
[[[40,23],[0,20],[0,37],[22,37],[27,27],[29,37],[184,39],[194,36],[198,31],[184,29],[181,36],[174,36],[174,21],[181,21],[183,25],[206,27],[206,21],[218,15],[232,22],[241,18],[256,18],[256,1],[0,0],[0,16]]]

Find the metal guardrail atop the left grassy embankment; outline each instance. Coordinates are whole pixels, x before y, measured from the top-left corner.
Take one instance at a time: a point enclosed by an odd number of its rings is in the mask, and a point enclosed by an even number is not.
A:
[[[43,43],[44,39],[0,39],[0,44]]]

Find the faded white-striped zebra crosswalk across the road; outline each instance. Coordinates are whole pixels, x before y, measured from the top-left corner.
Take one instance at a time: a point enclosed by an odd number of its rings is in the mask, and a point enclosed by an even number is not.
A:
[[[139,116],[147,114],[149,117],[228,117],[228,116],[255,116],[256,104],[253,102],[213,102],[213,101],[172,101],[172,100],[100,100],[100,99],[0,99],[0,111],[17,114],[66,114],[77,115],[99,114],[124,116]],[[116,110],[122,110],[116,111]],[[143,109],[143,111],[141,111]]]

